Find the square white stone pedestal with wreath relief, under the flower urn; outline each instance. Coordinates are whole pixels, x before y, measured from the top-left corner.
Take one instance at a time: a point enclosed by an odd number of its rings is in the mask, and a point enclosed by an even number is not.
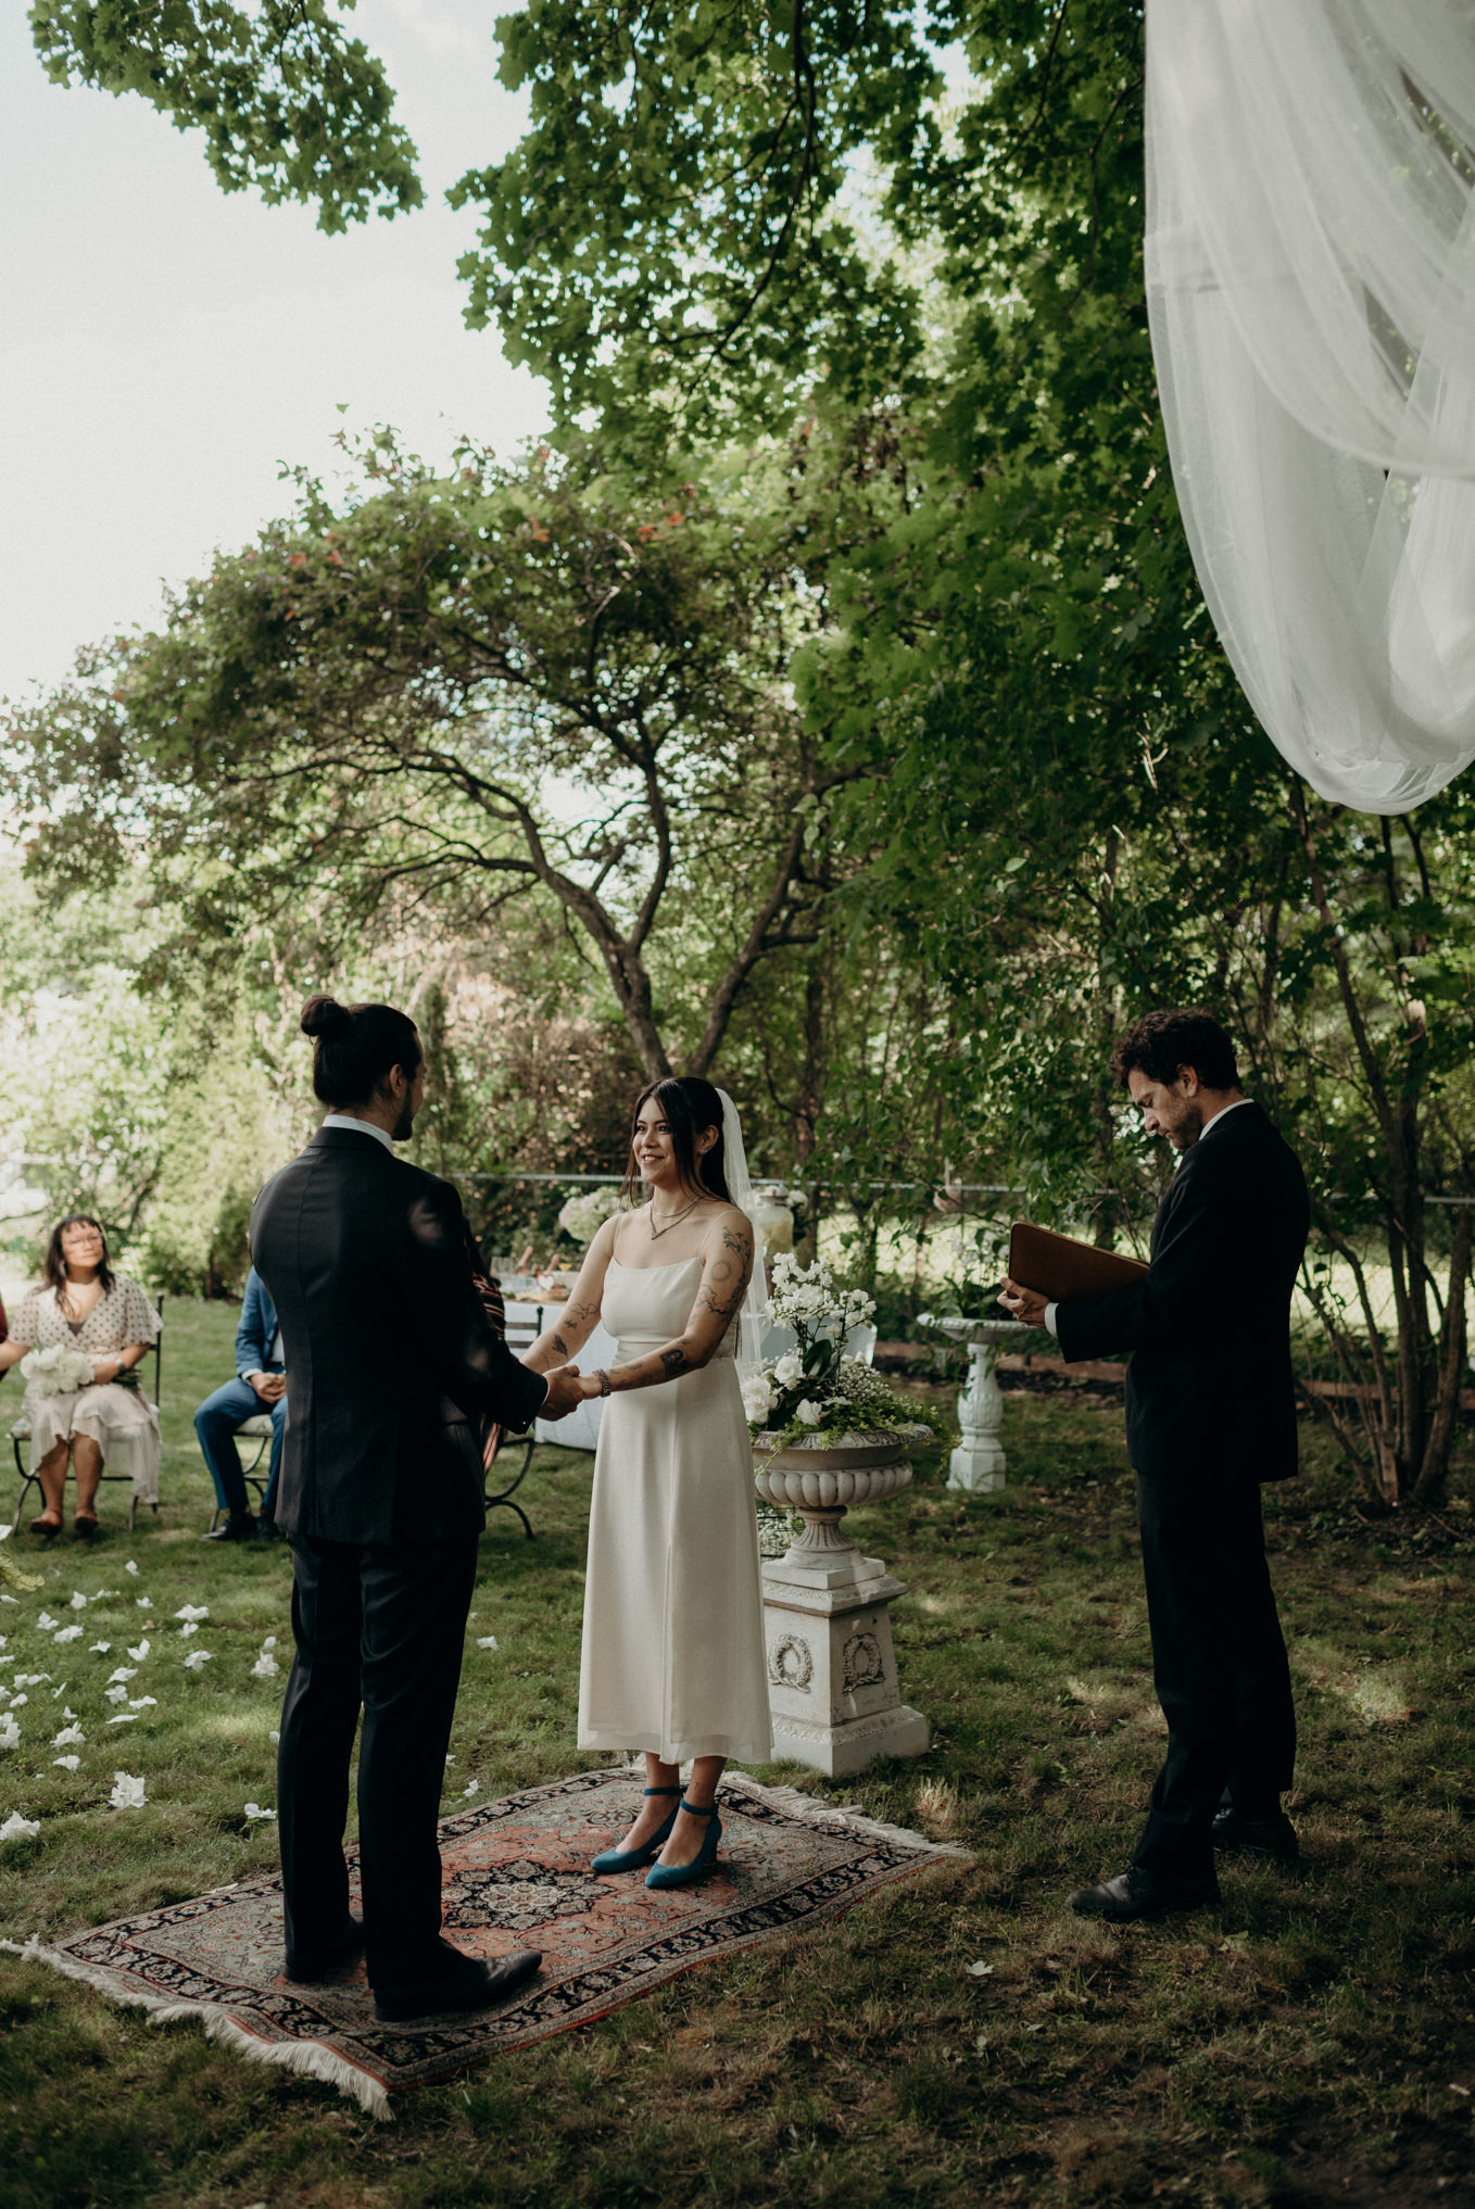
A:
[[[790,1549],[764,1566],[775,1756],[846,1778],[877,1756],[923,1754],[927,1721],[908,1710],[896,1683],[896,1595],[905,1595],[905,1582],[852,1546]]]

